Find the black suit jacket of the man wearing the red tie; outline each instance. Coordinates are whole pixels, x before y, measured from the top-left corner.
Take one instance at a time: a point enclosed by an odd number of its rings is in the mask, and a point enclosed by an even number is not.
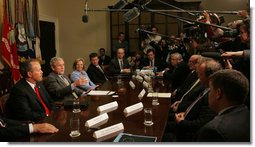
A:
[[[38,82],[37,86],[45,105],[48,109],[53,109],[53,101],[44,85]],[[21,79],[12,88],[10,98],[7,101],[7,107],[9,109],[8,116],[15,120],[37,122],[46,116],[44,107],[39,101],[34,89],[25,79]]]

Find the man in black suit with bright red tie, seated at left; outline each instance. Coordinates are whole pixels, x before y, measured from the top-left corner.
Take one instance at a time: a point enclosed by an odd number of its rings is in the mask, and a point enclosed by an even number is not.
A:
[[[50,115],[53,101],[42,81],[39,61],[27,60],[21,65],[23,79],[14,85],[7,101],[9,117],[15,120],[37,122]]]

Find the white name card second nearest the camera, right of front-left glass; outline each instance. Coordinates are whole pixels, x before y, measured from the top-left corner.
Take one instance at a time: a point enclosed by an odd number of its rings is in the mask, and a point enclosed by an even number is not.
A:
[[[97,117],[87,120],[85,123],[85,127],[96,128],[98,126],[101,126],[101,125],[107,123],[108,119],[109,119],[109,117],[108,117],[107,113],[98,115]]]

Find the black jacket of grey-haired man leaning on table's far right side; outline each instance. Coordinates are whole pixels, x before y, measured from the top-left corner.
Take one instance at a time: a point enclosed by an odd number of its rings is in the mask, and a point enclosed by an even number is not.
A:
[[[166,71],[163,76],[164,78],[172,81],[171,89],[174,90],[183,84],[189,72],[190,70],[187,63],[182,61],[179,65],[177,65],[177,67]]]

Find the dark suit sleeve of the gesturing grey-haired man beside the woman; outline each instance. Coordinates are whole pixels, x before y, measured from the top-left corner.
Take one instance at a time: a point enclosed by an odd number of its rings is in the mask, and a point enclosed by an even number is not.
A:
[[[55,101],[63,99],[65,96],[72,93],[71,85],[61,87],[57,79],[53,76],[48,76],[47,79],[44,81],[44,85]]]

